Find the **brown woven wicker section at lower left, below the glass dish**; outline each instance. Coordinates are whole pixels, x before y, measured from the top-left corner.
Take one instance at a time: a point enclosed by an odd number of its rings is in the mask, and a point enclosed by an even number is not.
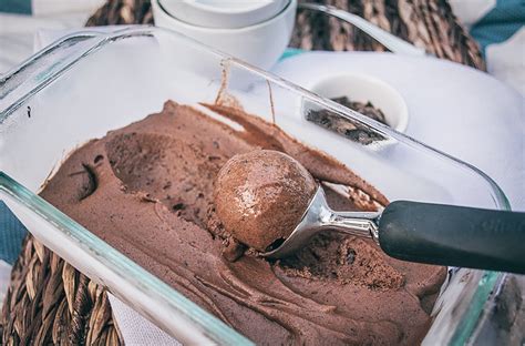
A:
[[[120,345],[103,287],[31,235],[13,266],[2,345]]]

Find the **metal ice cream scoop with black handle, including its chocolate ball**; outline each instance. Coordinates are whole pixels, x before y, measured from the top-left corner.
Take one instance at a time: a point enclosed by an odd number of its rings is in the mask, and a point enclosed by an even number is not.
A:
[[[371,237],[399,260],[525,274],[525,213],[410,201],[392,202],[379,212],[334,212],[322,187],[305,176],[305,167],[285,154],[270,153],[231,159],[215,190],[225,227],[262,256],[286,257],[313,235],[339,231]],[[266,186],[285,193],[256,193]]]

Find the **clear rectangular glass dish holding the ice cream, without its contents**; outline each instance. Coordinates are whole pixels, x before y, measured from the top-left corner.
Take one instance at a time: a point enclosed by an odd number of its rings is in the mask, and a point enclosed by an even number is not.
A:
[[[0,199],[45,246],[183,343],[250,342],[37,195],[72,150],[168,99],[243,106],[337,157],[391,201],[509,208],[475,167],[184,35],[135,27],[64,37],[1,77]],[[373,140],[328,131],[308,121],[310,110],[342,116]],[[467,342],[502,278],[450,268],[423,343]]]

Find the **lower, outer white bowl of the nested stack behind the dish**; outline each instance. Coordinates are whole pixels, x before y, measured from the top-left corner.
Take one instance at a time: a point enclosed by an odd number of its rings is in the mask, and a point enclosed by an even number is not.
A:
[[[155,26],[178,31],[253,65],[269,70],[286,50],[296,19],[297,0],[274,18],[240,29],[212,29],[192,26],[169,16],[152,1]]]

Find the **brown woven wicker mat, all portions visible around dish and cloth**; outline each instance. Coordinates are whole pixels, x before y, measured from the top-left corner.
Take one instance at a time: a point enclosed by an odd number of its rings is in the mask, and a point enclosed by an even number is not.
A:
[[[446,0],[325,0],[357,13],[436,57],[485,69],[477,44]],[[152,23],[150,1],[107,1],[86,26]],[[291,45],[308,50],[384,50],[363,32],[299,11]],[[2,330],[3,329],[3,330]],[[0,345],[120,345],[106,291],[31,235],[13,266],[0,318]]]

